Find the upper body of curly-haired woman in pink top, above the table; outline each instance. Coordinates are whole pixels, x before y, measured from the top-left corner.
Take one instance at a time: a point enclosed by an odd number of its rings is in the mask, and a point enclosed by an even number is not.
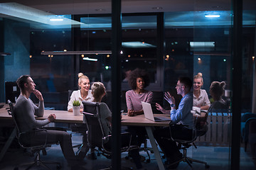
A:
[[[128,77],[129,86],[132,90],[126,92],[127,112],[129,116],[141,115],[142,101],[151,103],[153,93],[145,88],[149,86],[149,74],[142,69],[134,69]]]

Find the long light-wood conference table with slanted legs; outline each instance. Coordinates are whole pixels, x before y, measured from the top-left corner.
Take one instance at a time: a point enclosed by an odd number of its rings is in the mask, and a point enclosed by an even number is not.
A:
[[[0,109],[0,120],[12,120],[11,115],[7,113],[6,108],[8,108],[8,105],[4,105],[4,108]],[[83,123],[83,115],[80,114],[78,116],[73,115],[72,112],[68,111],[55,111],[55,110],[45,110],[45,113],[43,117],[36,117],[37,120],[44,120],[48,118],[48,115],[55,114],[56,120],[55,123]],[[169,115],[164,114],[155,114],[156,116],[163,116],[163,117],[169,117]],[[122,120],[121,125],[136,125],[136,126],[144,126],[146,128],[147,135],[149,137],[149,141],[151,143],[151,147],[154,151],[154,155],[156,157],[157,164],[159,166],[160,170],[164,170],[164,164],[161,160],[161,156],[159,153],[159,149],[156,145],[156,141],[154,140],[153,130],[154,127],[168,127],[170,121],[162,121],[162,122],[154,122],[151,120],[148,120],[144,118],[144,115],[137,115],[137,116],[128,116],[127,114],[122,114]],[[4,148],[1,150],[0,153],[0,161],[4,157],[4,154],[6,150],[11,145],[12,140],[14,140],[14,137],[16,135],[16,128],[14,128],[13,132],[11,133],[9,140],[4,145]]]

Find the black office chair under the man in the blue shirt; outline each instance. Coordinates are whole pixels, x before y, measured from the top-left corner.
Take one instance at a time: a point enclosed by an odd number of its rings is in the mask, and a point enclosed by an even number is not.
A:
[[[171,140],[174,140],[175,142],[178,143],[178,148],[179,149],[183,149],[183,157],[181,159],[179,159],[178,161],[169,164],[168,167],[173,166],[174,164],[177,164],[178,162],[186,162],[189,166],[191,166],[191,169],[193,169],[193,166],[191,165],[191,163],[193,162],[198,162],[201,164],[205,164],[205,169],[210,168],[210,166],[206,163],[206,162],[202,162],[200,160],[196,160],[196,159],[192,159],[190,157],[187,157],[187,149],[189,147],[191,147],[192,145],[196,147],[196,145],[194,144],[194,141],[196,140],[197,137],[199,136],[203,136],[206,134],[208,127],[207,127],[207,117],[208,117],[208,113],[201,111],[201,115],[198,114],[193,114],[193,130],[192,130],[192,137],[191,139],[176,139],[175,137],[173,137],[171,135]],[[170,128],[170,133],[171,133],[171,128],[174,126],[185,126],[186,125],[173,125],[170,123],[169,128]]]

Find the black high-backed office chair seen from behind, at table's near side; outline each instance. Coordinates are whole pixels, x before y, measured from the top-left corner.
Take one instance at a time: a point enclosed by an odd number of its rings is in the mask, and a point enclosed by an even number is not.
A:
[[[104,135],[100,120],[100,104],[90,101],[82,101],[82,103],[84,105],[84,121],[87,125],[87,142],[90,147],[97,147],[103,156],[110,159],[112,154],[112,135]],[[121,133],[121,138],[126,139],[122,142],[121,152],[138,149],[137,146],[131,145],[132,135],[129,132]]]

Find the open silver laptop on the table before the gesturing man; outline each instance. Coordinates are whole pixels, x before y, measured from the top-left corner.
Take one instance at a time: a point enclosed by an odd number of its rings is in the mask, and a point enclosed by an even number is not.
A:
[[[154,122],[171,121],[171,118],[154,117],[150,103],[146,103],[142,101],[142,108],[143,108],[144,116],[146,119],[152,120]]]

